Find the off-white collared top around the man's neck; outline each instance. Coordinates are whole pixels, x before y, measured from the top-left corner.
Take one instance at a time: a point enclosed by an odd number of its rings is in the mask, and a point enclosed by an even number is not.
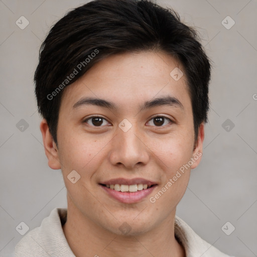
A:
[[[18,242],[15,257],[75,257],[62,229],[66,217],[66,208],[53,209],[40,227],[28,232]],[[178,216],[175,216],[174,232],[187,257],[229,257],[203,240]]]

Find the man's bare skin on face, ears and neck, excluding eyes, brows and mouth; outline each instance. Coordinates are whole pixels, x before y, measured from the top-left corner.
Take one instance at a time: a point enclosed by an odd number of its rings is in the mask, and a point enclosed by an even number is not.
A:
[[[67,188],[68,216],[63,226],[76,256],[186,256],[174,236],[176,206],[183,197],[190,171],[201,157],[155,203],[169,179],[197,153],[202,153],[204,124],[194,149],[191,100],[185,75],[175,81],[170,72],[183,67],[163,52],[123,53],[96,63],[64,90],[57,128],[58,149],[45,119],[40,124],[48,165],[61,169]],[[145,101],[176,97],[183,105],[156,106],[140,112]],[[115,103],[117,110],[87,105],[73,109],[83,96]],[[163,114],[163,124],[153,117]],[[93,122],[91,115],[103,117]],[[132,124],[123,132],[118,124]],[[157,120],[158,121],[158,120]],[[100,126],[100,127],[99,127]],[[75,170],[80,179],[67,176]],[[113,178],[145,178],[158,183],[150,196],[138,203],[120,203],[98,185]],[[131,231],[122,234],[123,222]],[[153,243],[154,242],[154,243]]]

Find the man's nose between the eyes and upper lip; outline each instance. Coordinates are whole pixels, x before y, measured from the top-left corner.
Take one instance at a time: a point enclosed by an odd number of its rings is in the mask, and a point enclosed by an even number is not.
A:
[[[144,142],[142,133],[134,123],[129,131],[122,131],[117,127],[117,133],[111,141],[109,160],[114,166],[123,166],[126,169],[136,169],[146,165],[150,160],[150,150]]]

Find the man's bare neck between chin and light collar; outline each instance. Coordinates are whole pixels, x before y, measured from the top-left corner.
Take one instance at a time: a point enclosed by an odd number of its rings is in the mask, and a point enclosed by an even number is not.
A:
[[[174,233],[175,211],[154,230],[139,235],[114,234],[85,217],[68,200],[67,221],[63,231],[76,257],[159,256],[185,257],[185,250]]]

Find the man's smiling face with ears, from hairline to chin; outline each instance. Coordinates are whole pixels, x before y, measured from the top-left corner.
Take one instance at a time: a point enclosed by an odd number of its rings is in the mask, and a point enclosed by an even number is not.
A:
[[[115,234],[127,222],[137,235],[174,217],[204,138],[202,124],[194,150],[191,100],[176,67],[183,71],[163,52],[107,57],[65,88],[58,150],[47,146],[42,121],[49,166],[62,170],[68,202],[87,222]]]

